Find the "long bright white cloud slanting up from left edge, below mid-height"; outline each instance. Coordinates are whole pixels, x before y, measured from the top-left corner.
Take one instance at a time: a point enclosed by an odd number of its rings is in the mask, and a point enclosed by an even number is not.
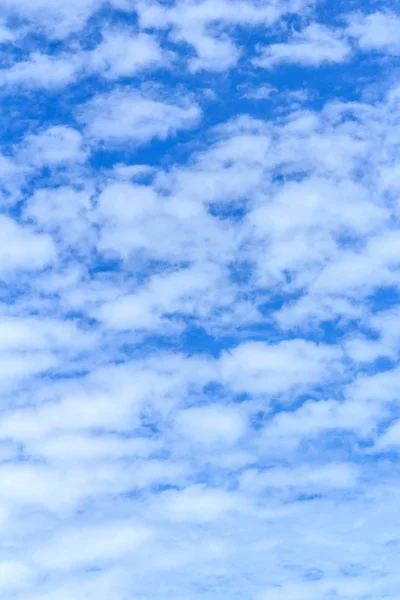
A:
[[[42,389],[39,406],[17,407],[4,415],[0,435],[24,442],[58,431],[129,433],[139,424],[151,398],[157,411],[168,413],[188,387],[205,385],[214,375],[215,366],[209,361],[192,362],[173,355],[148,363],[110,365],[74,379],[70,385],[66,382],[60,389],[51,386],[47,394]],[[164,402],[164,407],[159,402]]]

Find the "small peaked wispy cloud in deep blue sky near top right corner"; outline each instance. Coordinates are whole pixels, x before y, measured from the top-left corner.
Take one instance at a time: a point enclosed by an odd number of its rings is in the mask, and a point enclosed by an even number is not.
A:
[[[324,63],[344,62],[349,54],[350,45],[341,32],[313,23],[293,33],[287,43],[260,47],[259,56],[253,62],[264,69],[285,63],[318,67]]]

